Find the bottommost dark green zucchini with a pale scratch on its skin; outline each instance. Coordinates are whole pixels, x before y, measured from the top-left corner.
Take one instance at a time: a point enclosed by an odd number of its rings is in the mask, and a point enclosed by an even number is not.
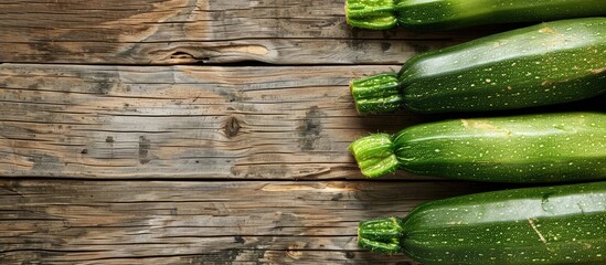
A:
[[[606,264],[606,182],[485,192],[360,222],[358,243],[423,264]]]

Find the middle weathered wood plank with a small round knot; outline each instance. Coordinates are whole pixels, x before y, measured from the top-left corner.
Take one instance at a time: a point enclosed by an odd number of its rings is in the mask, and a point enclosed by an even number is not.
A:
[[[347,148],[423,120],[360,117],[387,66],[0,65],[0,176],[361,178]]]

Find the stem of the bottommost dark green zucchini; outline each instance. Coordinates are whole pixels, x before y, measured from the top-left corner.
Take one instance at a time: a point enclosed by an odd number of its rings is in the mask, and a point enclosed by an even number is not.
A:
[[[358,225],[358,245],[373,252],[401,253],[403,223],[395,216],[362,221]]]

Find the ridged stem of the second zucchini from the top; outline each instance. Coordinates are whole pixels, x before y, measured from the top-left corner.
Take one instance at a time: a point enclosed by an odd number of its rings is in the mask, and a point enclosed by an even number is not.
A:
[[[404,105],[400,81],[394,73],[352,81],[350,88],[355,109],[361,115],[391,113]]]

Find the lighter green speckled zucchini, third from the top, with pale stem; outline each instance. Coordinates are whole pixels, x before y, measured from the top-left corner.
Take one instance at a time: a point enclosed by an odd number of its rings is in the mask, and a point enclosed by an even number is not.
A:
[[[606,178],[606,114],[562,113],[454,119],[374,134],[350,145],[362,173],[396,169],[488,182]]]

